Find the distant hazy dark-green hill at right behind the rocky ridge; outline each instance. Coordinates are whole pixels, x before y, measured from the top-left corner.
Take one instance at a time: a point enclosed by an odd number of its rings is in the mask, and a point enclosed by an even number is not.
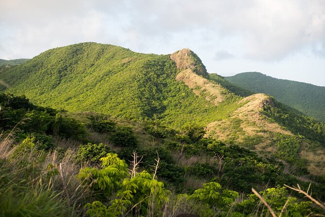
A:
[[[272,95],[279,102],[325,123],[325,87],[277,79],[259,72],[243,72],[224,78],[242,89]]]

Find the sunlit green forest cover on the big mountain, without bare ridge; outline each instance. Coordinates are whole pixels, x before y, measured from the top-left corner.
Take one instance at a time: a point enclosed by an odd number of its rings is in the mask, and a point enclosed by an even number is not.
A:
[[[208,77],[201,60],[194,53],[191,58],[196,72]],[[80,43],[51,49],[4,69],[0,79],[10,86],[6,91],[26,94],[38,105],[160,120],[177,128],[227,118],[240,106],[239,97],[226,94],[226,100],[216,107],[175,80],[177,73],[170,55]]]

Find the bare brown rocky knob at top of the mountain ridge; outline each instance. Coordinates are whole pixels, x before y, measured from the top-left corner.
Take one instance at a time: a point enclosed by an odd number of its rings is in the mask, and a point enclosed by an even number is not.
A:
[[[198,75],[202,75],[205,78],[209,77],[201,59],[188,48],[172,53],[171,59],[176,63],[176,67],[179,70],[191,69]]]

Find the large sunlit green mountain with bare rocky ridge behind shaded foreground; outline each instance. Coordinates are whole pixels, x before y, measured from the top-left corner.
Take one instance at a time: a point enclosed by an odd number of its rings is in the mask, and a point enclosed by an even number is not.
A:
[[[74,44],[5,68],[0,81],[5,92],[39,106],[156,121],[176,130],[198,125],[205,136],[288,162],[291,173],[325,175],[324,124],[207,73],[189,49],[157,55]]]

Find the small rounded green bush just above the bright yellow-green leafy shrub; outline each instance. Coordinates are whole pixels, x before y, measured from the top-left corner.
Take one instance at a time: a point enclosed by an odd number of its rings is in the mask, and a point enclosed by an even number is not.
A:
[[[77,153],[77,159],[80,161],[90,161],[93,163],[99,163],[100,159],[105,157],[109,152],[107,145],[103,143],[80,145]]]

